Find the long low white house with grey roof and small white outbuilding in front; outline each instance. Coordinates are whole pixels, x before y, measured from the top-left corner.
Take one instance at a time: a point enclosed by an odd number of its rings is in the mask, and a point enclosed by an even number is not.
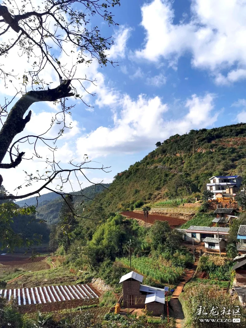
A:
[[[190,226],[185,230],[183,239],[188,243],[204,243],[204,247],[208,251],[219,252],[219,249],[220,251],[225,250],[228,235],[229,228]]]

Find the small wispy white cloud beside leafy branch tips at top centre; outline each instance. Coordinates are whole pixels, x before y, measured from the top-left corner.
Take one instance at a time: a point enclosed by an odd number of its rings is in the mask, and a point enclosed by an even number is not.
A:
[[[114,44],[108,51],[109,59],[124,58],[126,55],[126,44],[130,37],[132,29],[125,26],[119,27],[118,31],[113,35]]]

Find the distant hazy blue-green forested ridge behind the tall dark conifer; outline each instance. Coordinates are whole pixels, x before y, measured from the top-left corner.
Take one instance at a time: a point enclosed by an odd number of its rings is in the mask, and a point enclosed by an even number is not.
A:
[[[84,203],[88,202],[88,200],[93,199],[96,194],[101,193],[105,189],[105,187],[108,188],[109,186],[110,183],[103,183],[102,185],[96,186],[92,185],[82,189],[81,191],[71,193],[72,195],[74,195],[74,207],[76,208],[82,201],[85,201]],[[19,206],[25,206],[26,204],[30,206],[36,205],[37,200],[36,197],[31,197],[29,199],[26,199],[25,201],[19,201],[16,203]],[[38,198],[36,217],[46,220],[48,224],[57,223],[61,205],[61,196],[57,196],[57,194],[55,193],[41,195],[40,198]]]

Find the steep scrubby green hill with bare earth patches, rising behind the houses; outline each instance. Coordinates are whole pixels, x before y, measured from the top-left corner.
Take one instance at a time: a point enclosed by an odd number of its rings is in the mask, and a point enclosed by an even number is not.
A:
[[[159,147],[118,173],[110,190],[96,196],[105,210],[130,208],[137,200],[190,195],[200,192],[212,175],[244,174],[246,170],[244,123],[191,130],[158,141]]]

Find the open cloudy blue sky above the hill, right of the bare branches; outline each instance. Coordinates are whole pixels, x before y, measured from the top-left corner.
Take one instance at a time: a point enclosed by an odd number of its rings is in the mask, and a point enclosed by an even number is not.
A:
[[[73,132],[58,143],[64,165],[88,154],[111,166],[90,179],[111,182],[170,135],[246,121],[246,1],[122,0],[112,11],[119,27],[96,23],[102,35],[113,34],[109,58],[119,66],[93,63],[78,72],[96,78],[97,87],[88,85],[96,95],[84,98],[93,109],[76,102],[72,110]],[[39,127],[56,111],[51,104],[32,110]],[[43,165],[35,163],[30,172]],[[23,168],[11,170],[9,190]]]

